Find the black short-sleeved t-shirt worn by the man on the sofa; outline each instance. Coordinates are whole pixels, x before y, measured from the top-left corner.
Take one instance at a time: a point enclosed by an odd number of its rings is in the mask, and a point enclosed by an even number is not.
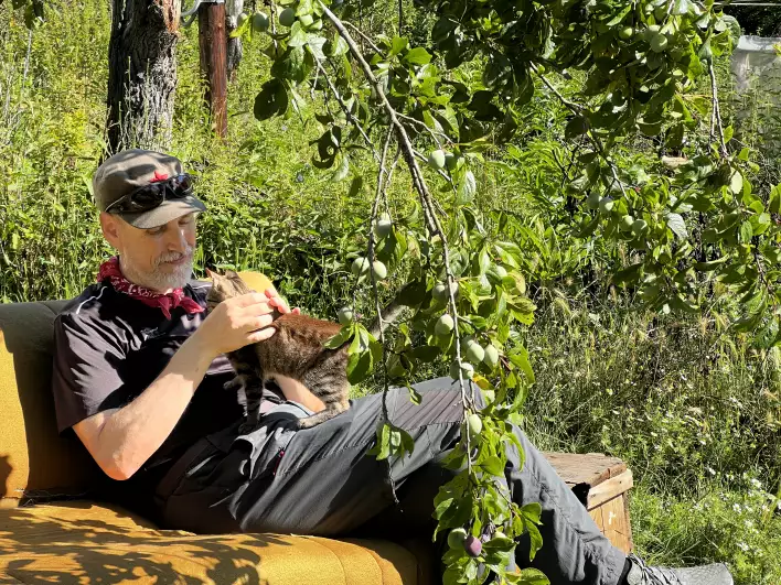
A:
[[[192,281],[184,294],[205,307],[210,286]],[[54,321],[52,384],[60,432],[72,433],[79,421],[131,402],[204,318],[205,313],[176,307],[167,319],[160,308],[117,292],[108,281],[88,286]],[[233,376],[227,358],[216,358],[165,442],[131,480],[115,483],[117,492],[122,484],[121,491],[139,494],[139,511],[147,511],[154,485],[188,447],[244,415],[244,392],[223,388]],[[265,398],[281,401],[269,390]]]

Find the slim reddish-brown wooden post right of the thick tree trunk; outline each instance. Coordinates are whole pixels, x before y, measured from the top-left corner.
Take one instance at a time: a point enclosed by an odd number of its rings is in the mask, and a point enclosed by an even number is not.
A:
[[[206,77],[206,101],[212,111],[212,128],[220,138],[227,136],[227,39],[225,4],[203,3],[197,11],[201,72]]]

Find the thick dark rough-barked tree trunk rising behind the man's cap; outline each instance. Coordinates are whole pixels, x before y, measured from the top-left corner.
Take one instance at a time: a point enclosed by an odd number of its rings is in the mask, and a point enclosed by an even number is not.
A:
[[[176,89],[180,0],[113,0],[108,147],[165,150]],[[109,153],[109,154],[110,154]]]

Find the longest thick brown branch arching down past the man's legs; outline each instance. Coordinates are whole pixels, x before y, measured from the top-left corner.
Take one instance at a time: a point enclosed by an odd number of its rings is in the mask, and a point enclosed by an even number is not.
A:
[[[409,172],[413,177],[413,184],[415,185],[415,188],[418,192],[418,195],[420,196],[420,204],[421,204],[421,207],[424,210],[424,215],[426,217],[429,232],[431,234],[432,237],[439,237],[440,241],[442,242],[442,256],[443,256],[443,262],[445,262],[445,272],[447,274],[447,280],[448,280],[449,304],[450,304],[450,311],[452,312],[452,317],[453,317],[453,331],[454,331],[454,337],[456,337],[456,360],[459,366],[458,378],[459,378],[459,386],[461,389],[461,402],[464,405],[464,409],[467,409],[468,404],[471,401],[467,397],[467,390],[466,390],[464,383],[463,383],[463,370],[461,369],[462,361],[461,361],[461,342],[460,342],[460,335],[459,335],[459,318],[458,318],[458,308],[456,306],[456,295],[453,293],[453,284],[456,283],[456,278],[453,277],[452,269],[450,268],[450,251],[448,248],[447,238],[445,237],[445,231],[442,230],[441,224],[439,223],[439,219],[437,218],[437,215],[435,213],[435,206],[432,203],[431,193],[429,192],[428,185],[426,184],[426,180],[422,176],[422,172],[420,171],[420,167],[418,166],[418,163],[415,160],[415,152],[414,152],[413,145],[409,141],[409,137],[407,136],[407,131],[405,130],[402,122],[398,120],[398,117],[396,116],[396,110],[388,102],[387,97],[385,96],[385,91],[383,90],[382,84],[374,76],[372,68],[370,67],[368,63],[366,63],[366,59],[361,54],[361,51],[359,50],[357,45],[355,44],[355,41],[353,40],[352,36],[350,36],[350,33],[347,32],[347,30],[344,26],[344,24],[342,23],[342,21],[339,18],[336,18],[336,15],[333,12],[331,12],[331,10],[329,10],[329,8],[325,4],[323,4],[321,1],[319,1],[318,3],[320,4],[320,8],[323,11],[323,14],[331,21],[331,23],[334,25],[334,28],[336,29],[339,34],[347,43],[347,47],[350,48],[350,53],[353,55],[355,61],[357,61],[359,64],[361,65],[361,68],[363,69],[364,75],[366,76],[366,79],[368,79],[368,82],[374,87],[374,89],[377,94],[377,97],[381,100],[383,108],[385,109],[388,117],[390,118],[390,124],[396,130],[396,133],[398,136],[399,148],[402,150],[402,154],[404,155],[405,161],[407,162],[407,166],[409,167]],[[471,461],[471,453],[470,453],[470,448],[469,448],[469,433],[464,433],[464,435],[467,437],[467,461],[469,464],[469,472],[471,474],[472,461]]]

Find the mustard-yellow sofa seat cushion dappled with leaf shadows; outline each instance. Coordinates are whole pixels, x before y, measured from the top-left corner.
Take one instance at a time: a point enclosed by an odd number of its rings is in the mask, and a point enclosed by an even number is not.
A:
[[[0,582],[425,585],[415,555],[384,541],[156,530],[88,501],[0,510]]]

